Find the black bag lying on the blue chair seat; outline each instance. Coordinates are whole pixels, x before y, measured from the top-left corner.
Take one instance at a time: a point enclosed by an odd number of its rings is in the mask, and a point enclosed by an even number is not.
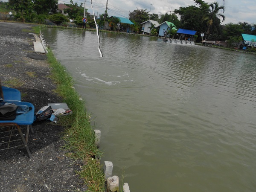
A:
[[[14,120],[17,116],[16,111],[17,105],[15,104],[0,105],[0,120]]]

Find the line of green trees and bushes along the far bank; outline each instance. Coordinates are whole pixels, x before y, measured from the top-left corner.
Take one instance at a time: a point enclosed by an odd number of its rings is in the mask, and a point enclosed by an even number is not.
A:
[[[4,4],[3,2],[0,2]],[[256,35],[256,24],[239,22],[239,23],[228,23],[222,25],[221,23],[225,20],[225,6],[219,5],[218,2],[205,3],[203,0],[194,0],[195,5],[180,7],[175,9],[173,13],[168,12],[163,15],[150,14],[146,9],[136,9],[129,14],[129,20],[134,25],[131,25],[131,31],[140,33],[141,24],[146,20],[155,20],[159,24],[169,21],[175,24],[177,29],[189,29],[195,30],[200,33],[204,33],[205,38],[209,40],[217,41],[239,41],[241,40],[241,33]],[[45,24],[47,20],[52,21],[57,25],[67,26],[70,19],[73,20],[78,26],[82,26],[82,18],[84,17],[83,3],[78,5],[70,0],[69,4],[65,4],[67,9],[65,12],[67,16],[57,13],[58,0],[9,0],[5,3],[7,9],[15,11],[14,19],[21,22],[33,22]],[[95,27],[94,19],[85,10],[87,16],[87,26]],[[180,16],[180,19],[178,18]],[[120,22],[118,17],[109,17],[107,12],[99,15],[97,19],[97,25],[100,29],[105,28],[106,21],[108,21],[109,27],[112,30],[116,30],[116,24]],[[127,25],[128,26],[128,25]],[[127,27],[125,26],[125,27]],[[151,35],[157,35],[159,28],[151,27]],[[170,34],[175,32],[171,29]]]

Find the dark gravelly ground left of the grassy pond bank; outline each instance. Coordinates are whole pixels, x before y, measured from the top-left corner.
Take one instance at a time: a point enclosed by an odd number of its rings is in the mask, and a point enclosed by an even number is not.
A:
[[[35,38],[29,32],[32,26],[35,25],[0,21],[0,79],[3,86],[13,78],[24,82],[14,88],[22,93],[22,101],[32,103],[38,111],[48,103],[61,102],[61,98],[54,93],[55,84],[48,78],[47,61],[27,57],[34,52]],[[29,132],[28,141],[31,160],[23,146],[0,151],[0,191],[85,191],[87,186],[76,174],[81,162],[66,157],[67,151],[61,149],[64,128],[47,121],[32,126],[35,133]]]

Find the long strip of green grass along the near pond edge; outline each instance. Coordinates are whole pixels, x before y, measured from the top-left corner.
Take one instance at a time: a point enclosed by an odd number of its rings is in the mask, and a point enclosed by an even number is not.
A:
[[[47,61],[52,67],[51,78],[58,85],[57,93],[62,96],[63,102],[67,103],[73,111],[72,115],[63,116],[59,123],[66,127],[63,139],[66,141],[64,148],[73,153],[68,156],[74,160],[82,160],[84,166],[79,175],[84,179],[84,184],[88,186],[88,191],[105,192],[105,179],[102,165],[96,157],[100,157],[102,152],[94,144],[95,134],[90,125],[90,118],[84,107],[84,101],[73,89],[73,78],[67,73],[66,68],[61,65],[54,57],[53,52],[49,50]]]

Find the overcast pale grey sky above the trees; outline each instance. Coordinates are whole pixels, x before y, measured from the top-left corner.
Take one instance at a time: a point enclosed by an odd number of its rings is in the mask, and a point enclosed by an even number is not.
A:
[[[215,0],[204,0],[213,3]],[[225,6],[224,15],[226,20],[222,24],[247,22],[256,24],[256,0],[216,0],[219,5]],[[59,3],[70,3],[69,0],[59,0]],[[73,0],[73,2],[84,3],[84,0]],[[95,15],[103,14],[106,9],[107,0],[92,0]],[[128,17],[129,11],[147,9],[151,13],[165,14],[179,7],[196,5],[193,0],[108,0],[108,15],[117,17]],[[85,8],[93,14],[90,8],[90,0],[86,0]]]

